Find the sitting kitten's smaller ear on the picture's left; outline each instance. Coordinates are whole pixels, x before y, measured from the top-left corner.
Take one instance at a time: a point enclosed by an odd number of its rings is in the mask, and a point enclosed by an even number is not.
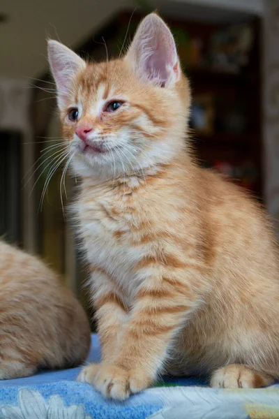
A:
[[[85,61],[65,45],[50,39],[47,41],[48,61],[56,82],[59,109],[67,104],[75,75],[85,68]]]

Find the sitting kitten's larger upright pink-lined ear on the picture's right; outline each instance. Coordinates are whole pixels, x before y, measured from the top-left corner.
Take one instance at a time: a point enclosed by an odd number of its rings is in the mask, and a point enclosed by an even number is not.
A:
[[[161,87],[174,84],[181,75],[174,37],[156,13],[144,17],[125,59],[142,80]]]

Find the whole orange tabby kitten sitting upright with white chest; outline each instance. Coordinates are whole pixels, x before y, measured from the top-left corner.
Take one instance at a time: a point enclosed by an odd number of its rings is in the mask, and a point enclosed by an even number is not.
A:
[[[49,58],[63,135],[82,177],[75,210],[90,264],[103,362],[80,381],[126,399],[158,372],[213,387],[279,378],[279,280],[266,214],[199,168],[187,142],[188,80],[163,20],[148,15],[125,57]]]

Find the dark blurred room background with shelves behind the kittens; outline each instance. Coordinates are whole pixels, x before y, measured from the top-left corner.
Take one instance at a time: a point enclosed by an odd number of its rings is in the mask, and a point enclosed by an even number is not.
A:
[[[279,234],[279,0],[1,0],[0,234],[43,256],[83,299],[85,267],[63,211],[75,180],[61,184],[63,165],[52,173],[61,133],[45,39],[115,57],[154,9],[191,80],[199,161],[252,191]]]

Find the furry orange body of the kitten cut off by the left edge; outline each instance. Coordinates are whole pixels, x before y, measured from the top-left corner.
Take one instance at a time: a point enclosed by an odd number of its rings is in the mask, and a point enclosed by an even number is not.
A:
[[[72,293],[40,260],[0,242],[0,379],[81,364],[90,328]]]

